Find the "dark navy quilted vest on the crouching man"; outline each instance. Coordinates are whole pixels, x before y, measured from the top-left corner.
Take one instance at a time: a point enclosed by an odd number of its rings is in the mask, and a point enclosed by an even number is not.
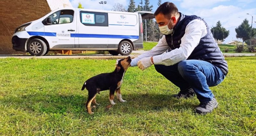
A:
[[[190,21],[194,19],[203,20],[201,17],[197,16],[186,16],[180,13],[180,20],[173,28],[173,35],[165,35],[166,41],[172,50],[176,48],[180,48],[181,38],[185,34],[185,29]],[[203,20],[204,21],[204,20]],[[212,63],[216,67],[220,68],[224,75],[228,73],[227,62],[224,60],[223,54],[220,51],[215,39],[213,38],[213,34],[211,33],[210,28],[204,21],[207,26],[207,34],[200,39],[199,44],[192,51],[191,55],[187,60],[203,60]],[[172,41],[173,40],[173,41]],[[172,45],[173,42],[173,45]]]

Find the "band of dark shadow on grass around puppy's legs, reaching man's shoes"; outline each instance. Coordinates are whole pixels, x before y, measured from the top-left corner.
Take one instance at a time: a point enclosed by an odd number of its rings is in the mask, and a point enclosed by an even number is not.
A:
[[[109,93],[109,91],[105,91]],[[185,99],[177,99],[170,94],[125,94],[123,99],[125,103],[120,103],[115,97],[117,103],[111,110],[104,110],[109,105],[106,95],[97,95],[96,100],[100,103],[95,111],[99,114],[133,114],[135,112],[155,112],[168,109],[171,111],[193,110],[196,105]],[[85,103],[87,96],[69,95],[62,96],[58,94],[27,94],[23,96],[7,96],[0,100],[0,105],[5,105],[19,110],[26,110],[31,113],[39,114],[72,114],[79,117],[86,115]],[[104,113],[106,112],[106,113]]]

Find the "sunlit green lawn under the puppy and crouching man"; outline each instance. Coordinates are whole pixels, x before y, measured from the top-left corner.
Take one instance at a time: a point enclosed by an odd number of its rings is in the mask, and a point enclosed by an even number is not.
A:
[[[154,67],[130,67],[121,87],[127,103],[110,109],[109,91],[85,108],[88,78],[114,70],[115,60],[0,59],[0,135],[253,135],[256,134],[256,57],[226,58],[229,73],[211,87],[213,113],[194,114],[197,98],[175,99],[179,88]]]

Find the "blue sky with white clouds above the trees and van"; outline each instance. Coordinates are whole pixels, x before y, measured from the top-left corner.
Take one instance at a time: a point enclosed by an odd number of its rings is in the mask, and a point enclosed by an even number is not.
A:
[[[81,2],[82,6],[87,9],[104,9],[111,10],[115,3],[120,3],[126,8],[129,5],[129,0],[105,0],[106,5],[100,5],[101,0],[69,0],[73,7],[77,7]],[[162,3],[169,0],[162,0]],[[144,0],[143,0],[144,2]],[[229,36],[224,40],[224,43],[230,40],[240,40],[236,38],[237,28],[242,21],[247,18],[252,27],[256,28],[256,0],[172,0],[179,12],[184,15],[196,15],[204,18],[209,27],[216,25],[218,21],[222,26],[230,31]],[[135,0],[135,5],[139,5],[140,0]],[[150,5],[153,5],[153,12],[157,9],[157,0],[150,0]],[[103,7],[102,7],[103,6]],[[250,15],[247,15],[249,13]],[[254,22],[255,21],[255,22]],[[240,40],[241,41],[241,40]]]

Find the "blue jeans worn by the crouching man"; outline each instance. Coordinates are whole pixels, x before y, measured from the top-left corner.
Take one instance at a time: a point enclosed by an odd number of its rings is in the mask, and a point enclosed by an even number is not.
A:
[[[214,95],[209,87],[220,84],[225,78],[218,67],[201,60],[185,60],[170,66],[155,65],[155,68],[180,91],[192,88],[201,103],[212,100]]]

